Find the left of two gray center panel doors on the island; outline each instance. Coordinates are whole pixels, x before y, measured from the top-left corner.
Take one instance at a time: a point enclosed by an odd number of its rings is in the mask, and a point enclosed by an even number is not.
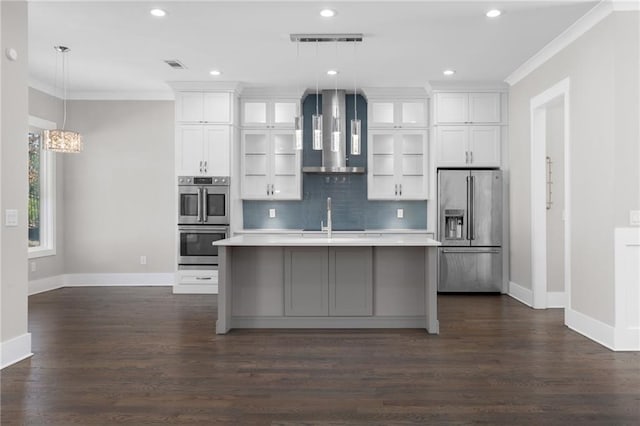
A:
[[[328,260],[327,247],[284,249],[285,315],[329,315]]]

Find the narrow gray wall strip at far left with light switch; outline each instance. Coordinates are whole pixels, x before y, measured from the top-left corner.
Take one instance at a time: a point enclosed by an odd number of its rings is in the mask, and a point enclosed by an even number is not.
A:
[[[0,152],[1,338],[3,343],[27,333],[27,3],[0,2],[2,128]],[[18,52],[9,61],[5,49]],[[4,226],[6,209],[18,210],[18,226]]]

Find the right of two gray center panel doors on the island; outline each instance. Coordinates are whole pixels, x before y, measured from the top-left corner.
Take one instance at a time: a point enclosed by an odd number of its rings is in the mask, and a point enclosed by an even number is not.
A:
[[[329,248],[329,315],[373,314],[371,247]]]

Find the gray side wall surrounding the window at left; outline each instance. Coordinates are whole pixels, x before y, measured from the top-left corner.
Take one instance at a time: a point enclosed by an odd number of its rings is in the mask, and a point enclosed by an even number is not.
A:
[[[62,126],[62,100],[46,93],[29,88],[29,115],[52,121]],[[69,154],[53,154],[56,163],[56,254],[29,260],[35,264],[35,271],[29,266],[29,280],[53,277],[64,274],[64,159]]]

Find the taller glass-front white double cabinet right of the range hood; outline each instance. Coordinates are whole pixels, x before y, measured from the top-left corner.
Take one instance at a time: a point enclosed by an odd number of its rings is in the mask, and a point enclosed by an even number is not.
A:
[[[369,130],[368,198],[427,199],[428,152],[424,130]]]

